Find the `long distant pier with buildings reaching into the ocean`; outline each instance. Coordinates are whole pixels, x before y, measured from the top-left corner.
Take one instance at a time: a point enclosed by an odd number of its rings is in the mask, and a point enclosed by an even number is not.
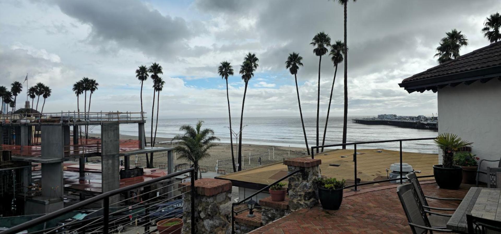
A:
[[[391,125],[404,128],[427,129],[438,131],[438,119],[436,117],[409,117],[396,115],[378,115],[378,118],[352,119],[353,123]]]

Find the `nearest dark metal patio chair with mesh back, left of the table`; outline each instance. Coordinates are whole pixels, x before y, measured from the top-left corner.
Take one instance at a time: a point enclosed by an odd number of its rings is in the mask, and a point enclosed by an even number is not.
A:
[[[442,214],[433,211],[425,210],[417,197],[417,192],[414,185],[406,183],[397,187],[397,194],[407,221],[414,234],[428,233],[428,231],[439,232],[456,232],[454,230],[446,229],[447,221],[452,214]],[[427,215],[430,214],[430,215]]]

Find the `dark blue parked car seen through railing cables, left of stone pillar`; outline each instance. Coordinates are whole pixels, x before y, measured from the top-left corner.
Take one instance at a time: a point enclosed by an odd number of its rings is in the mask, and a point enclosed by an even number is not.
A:
[[[148,214],[150,225],[156,225],[156,222],[162,219],[180,217],[183,214],[183,200],[180,199],[152,205],[149,208]],[[137,215],[137,222],[140,225],[146,223],[145,210]]]

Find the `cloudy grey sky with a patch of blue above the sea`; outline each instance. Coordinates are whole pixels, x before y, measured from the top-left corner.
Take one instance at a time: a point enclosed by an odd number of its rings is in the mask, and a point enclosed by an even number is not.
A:
[[[480,32],[485,18],[501,9],[497,0],[359,0],[348,5],[348,97],[351,116],[431,115],[436,94],[408,94],[404,78],[437,65],[435,48],[451,29],[469,45],[488,45]],[[228,61],[233,117],[239,116],[244,83],[238,74],[246,53],[259,68],[249,81],[245,116],[299,116],[290,53],[303,57],[298,85],[303,115],[315,116],[319,57],[310,45],[324,31],[343,39],[343,7],[327,0],[0,0],[0,85],[42,82],[52,89],[44,112],[74,111],[72,85],[95,79],[91,111],[139,111],[140,65],[163,67],[160,116],[226,117],[226,84],[217,74]],[[343,114],[343,71],[339,65],[331,116]],[[326,115],[334,66],[322,57],[320,114]],[[151,113],[153,89],[143,87]],[[23,104],[26,83],[18,99]],[[82,100],[82,99],[81,99]],[[83,101],[81,101],[81,106]],[[82,108],[83,109],[83,108]]]

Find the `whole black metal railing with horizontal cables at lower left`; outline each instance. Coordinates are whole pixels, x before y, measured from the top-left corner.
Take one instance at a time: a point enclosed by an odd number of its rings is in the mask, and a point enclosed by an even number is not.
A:
[[[0,232],[0,234],[18,233],[20,231],[33,229],[34,226],[41,223],[47,223],[53,219],[61,218],[62,215],[68,216],[70,212],[81,209],[84,206],[91,205],[96,202],[102,202],[102,208],[79,211],[78,214],[88,215],[89,218],[73,218],[68,222],[59,222],[55,227],[43,228],[42,230],[31,231],[29,233],[104,233],[123,232],[126,228],[131,227],[141,229],[142,233],[152,233],[157,231],[152,230],[150,226],[155,226],[155,222],[163,219],[182,218],[184,200],[180,199],[184,194],[190,194],[191,210],[195,206],[195,174],[194,168],[178,171],[162,177],[153,178],[144,182],[129,185],[123,188],[104,192],[89,199],[80,201],[63,209],[48,213],[22,224],[16,225]],[[179,190],[172,189],[175,183],[172,179],[175,176],[190,174],[191,182],[189,185],[179,186]],[[177,183],[181,183],[179,181]],[[182,192],[182,188],[190,186],[188,191]],[[141,192],[142,188],[142,192]],[[187,190],[187,189],[186,189]],[[179,192],[181,191],[181,192]],[[174,193],[179,193],[175,195]],[[110,204],[110,197],[120,196],[126,193],[125,200],[120,200]],[[137,195],[130,196],[136,193]],[[119,206],[121,204],[126,206]],[[134,204],[131,204],[134,203]],[[191,212],[191,233],[195,233],[195,217],[194,212]],[[134,218],[135,216],[135,218]],[[140,225],[138,225],[140,224]],[[180,227],[182,228],[182,227]],[[140,233],[140,232],[137,232]]]

